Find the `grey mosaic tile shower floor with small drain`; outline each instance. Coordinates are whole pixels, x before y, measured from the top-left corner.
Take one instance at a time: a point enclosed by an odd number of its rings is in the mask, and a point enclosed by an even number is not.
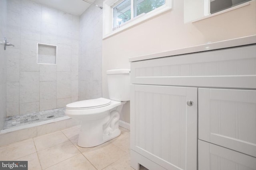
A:
[[[9,129],[12,127],[28,125],[31,123],[50,120],[50,119],[63,117],[63,116],[65,116],[65,107],[26,113],[22,115],[14,115],[14,116],[7,117],[5,119],[3,129]]]

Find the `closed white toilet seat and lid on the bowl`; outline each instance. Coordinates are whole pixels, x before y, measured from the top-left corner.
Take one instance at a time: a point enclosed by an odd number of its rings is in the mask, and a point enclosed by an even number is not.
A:
[[[81,109],[95,109],[98,107],[104,107],[110,105],[111,100],[105,98],[82,100],[66,105],[66,109],[81,110]]]

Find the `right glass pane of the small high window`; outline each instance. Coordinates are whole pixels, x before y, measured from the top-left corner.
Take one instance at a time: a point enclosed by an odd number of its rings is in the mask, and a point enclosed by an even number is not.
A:
[[[148,13],[165,4],[165,0],[134,0],[134,17]]]

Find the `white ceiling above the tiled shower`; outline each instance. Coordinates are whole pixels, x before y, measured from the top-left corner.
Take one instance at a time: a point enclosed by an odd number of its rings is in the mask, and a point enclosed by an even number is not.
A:
[[[40,4],[76,15],[80,16],[89,6],[90,4],[84,2],[83,0],[34,0]],[[90,2],[94,2],[95,0],[89,0]]]

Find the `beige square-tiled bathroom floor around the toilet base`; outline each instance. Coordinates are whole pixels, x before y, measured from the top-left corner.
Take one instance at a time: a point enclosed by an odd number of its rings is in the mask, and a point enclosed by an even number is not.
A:
[[[0,147],[0,160],[28,160],[29,170],[134,170],[130,131],[92,148],[78,147],[80,125]]]

